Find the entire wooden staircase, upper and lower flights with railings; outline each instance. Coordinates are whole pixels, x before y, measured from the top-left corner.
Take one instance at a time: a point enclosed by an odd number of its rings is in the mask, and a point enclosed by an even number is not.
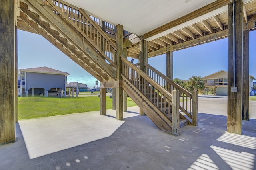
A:
[[[117,82],[116,44],[83,9],[62,0],[20,0],[19,10],[18,19],[100,82]],[[179,135],[183,125],[196,125],[197,96],[146,63],[147,73],[120,58],[124,91],[160,129]]]

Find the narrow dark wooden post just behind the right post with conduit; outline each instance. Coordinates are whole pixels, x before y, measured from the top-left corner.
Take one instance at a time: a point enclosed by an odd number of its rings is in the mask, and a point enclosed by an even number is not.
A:
[[[242,119],[249,120],[249,30],[244,31]]]

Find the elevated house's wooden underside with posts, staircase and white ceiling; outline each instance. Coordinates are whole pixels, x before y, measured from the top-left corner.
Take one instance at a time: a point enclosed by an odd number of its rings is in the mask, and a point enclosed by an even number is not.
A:
[[[7,22],[0,25],[0,91],[8,90],[0,94],[4,101],[1,144],[15,140],[17,29],[42,35],[101,82],[102,115],[106,114],[105,88],[114,88],[116,119],[123,118],[128,94],[141,115],[174,135],[179,135],[180,120],[197,125],[197,92],[172,81],[172,52],[228,37],[227,131],[242,133],[242,119],[249,119],[248,88],[244,87],[249,84],[249,31],[256,28],[256,1],[129,3],[133,12],[126,12],[130,10],[127,2],[119,0],[111,4],[105,0],[2,1],[1,18]],[[148,64],[149,57],[161,54],[166,54],[166,76]],[[127,56],[138,59],[139,65],[130,63]],[[180,94],[189,102],[179,102]]]

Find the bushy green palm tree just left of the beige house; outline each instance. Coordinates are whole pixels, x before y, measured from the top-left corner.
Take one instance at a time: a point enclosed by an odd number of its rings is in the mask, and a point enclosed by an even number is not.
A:
[[[190,90],[198,90],[200,93],[204,92],[204,81],[201,76],[192,76],[189,78],[188,82],[186,83],[186,89]]]

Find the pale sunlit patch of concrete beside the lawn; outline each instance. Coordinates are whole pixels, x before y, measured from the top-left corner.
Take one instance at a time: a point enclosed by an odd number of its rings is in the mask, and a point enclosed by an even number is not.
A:
[[[131,110],[138,110],[132,107]],[[116,111],[107,115],[115,117]],[[138,116],[124,112],[124,118]],[[98,111],[20,120],[30,159],[109,137],[124,121],[100,115]]]

